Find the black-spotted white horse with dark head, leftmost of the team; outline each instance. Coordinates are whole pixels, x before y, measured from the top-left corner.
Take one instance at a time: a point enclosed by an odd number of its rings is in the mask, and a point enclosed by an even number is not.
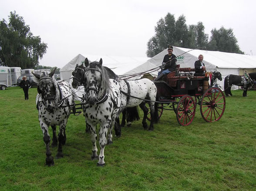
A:
[[[53,77],[56,68],[49,74],[45,72],[34,74],[38,80],[37,85],[37,110],[40,127],[44,135],[44,143],[46,145],[46,165],[53,166],[54,158],[51,155],[49,135],[49,125],[53,131],[52,147],[57,146],[59,142],[56,158],[62,158],[62,145],[66,142],[66,125],[69,118],[71,108],[68,105],[73,104],[71,86],[65,82],[57,82]],[[56,125],[59,125],[58,141],[56,136]]]

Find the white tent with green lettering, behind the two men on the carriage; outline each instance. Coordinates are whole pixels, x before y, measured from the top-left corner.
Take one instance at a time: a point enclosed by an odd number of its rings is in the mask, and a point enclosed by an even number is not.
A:
[[[145,72],[149,69],[162,65],[163,58],[167,54],[167,49],[163,50],[156,56],[148,59],[144,64],[131,69],[126,72],[138,73]],[[244,70],[248,72],[256,72],[256,56],[236,54],[236,53],[224,53],[219,51],[207,51],[201,49],[186,49],[173,46],[173,53],[177,56],[177,64],[180,64],[181,68],[194,68],[194,63],[198,60],[199,54],[204,56],[203,62],[207,71],[219,71],[222,74],[222,81],[218,81],[218,84],[224,88],[224,78],[229,74],[242,75]],[[145,70],[147,68],[147,70]],[[152,73],[157,76],[157,72]]]

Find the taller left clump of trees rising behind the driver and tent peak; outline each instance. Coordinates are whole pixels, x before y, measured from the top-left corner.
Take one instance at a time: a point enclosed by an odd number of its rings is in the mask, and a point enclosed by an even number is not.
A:
[[[186,24],[184,15],[175,21],[174,15],[167,13],[155,26],[155,36],[147,43],[147,56],[152,57],[166,49],[168,45],[183,48],[196,48],[207,46],[208,35],[204,32],[202,22],[197,25]]]

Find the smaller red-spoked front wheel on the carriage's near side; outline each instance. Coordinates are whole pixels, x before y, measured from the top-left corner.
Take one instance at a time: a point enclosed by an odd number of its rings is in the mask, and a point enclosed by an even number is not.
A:
[[[195,117],[195,102],[190,95],[184,95],[177,106],[177,120],[180,125],[189,125]]]

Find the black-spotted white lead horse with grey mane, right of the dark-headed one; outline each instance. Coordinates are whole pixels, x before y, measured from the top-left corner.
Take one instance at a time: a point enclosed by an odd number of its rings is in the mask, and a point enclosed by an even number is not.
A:
[[[125,108],[126,100],[121,96],[119,83],[115,79],[109,79],[108,73],[102,67],[102,59],[99,62],[89,63],[86,58],[86,66],[83,74],[84,97],[83,105],[86,125],[90,129],[92,142],[91,159],[98,159],[98,166],[104,166],[104,148],[112,143],[112,128],[115,119]],[[98,155],[96,125],[99,124],[99,145]],[[108,138],[107,138],[108,136]]]

